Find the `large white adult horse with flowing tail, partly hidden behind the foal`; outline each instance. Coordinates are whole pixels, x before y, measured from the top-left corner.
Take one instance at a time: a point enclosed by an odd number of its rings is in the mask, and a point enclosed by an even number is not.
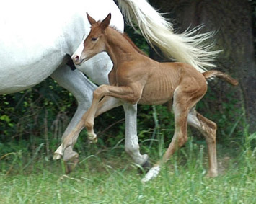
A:
[[[202,45],[211,33],[195,35],[195,32],[177,35],[172,25],[156,12],[146,0],[118,0],[118,6],[128,22],[138,24],[141,33],[149,43],[161,48],[168,58],[192,64],[203,71],[211,67],[211,61],[218,52],[208,51]],[[0,6],[0,94],[19,92],[39,84],[48,76],[68,89],[78,107],[74,117],[62,136],[61,146],[54,159],[63,156],[64,161],[74,164],[78,154],[73,146],[81,130],[71,135],[92,102],[96,86],[82,74],[84,72],[96,84],[107,84],[107,75],[112,62],[106,53],[100,53],[71,71],[66,65],[74,53],[80,57],[83,37],[90,30],[86,13],[95,19],[103,19],[111,12],[111,25],[123,32],[123,16],[112,0],[9,0]],[[156,32],[157,31],[157,32]],[[78,48],[76,50],[76,48]],[[99,67],[99,68],[97,68]],[[118,106],[115,99],[105,110]],[[141,155],[136,133],[136,105],[123,105],[125,110],[125,151],[140,165],[146,163],[147,155]],[[69,139],[65,140],[66,136]],[[67,165],[69,172],[73,165]]]

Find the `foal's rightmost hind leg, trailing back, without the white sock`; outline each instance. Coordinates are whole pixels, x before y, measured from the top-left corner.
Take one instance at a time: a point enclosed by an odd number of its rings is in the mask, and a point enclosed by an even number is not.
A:
[[[208,120],[206,117],[203,117],[203,115],[200,115],[195,108],[190,110],[187,122],[189,125],[197,128],[206,138],[209,160],[208,177],[216,177],[218,175],[216,156],[216,123],[213,123],[213,121]]]

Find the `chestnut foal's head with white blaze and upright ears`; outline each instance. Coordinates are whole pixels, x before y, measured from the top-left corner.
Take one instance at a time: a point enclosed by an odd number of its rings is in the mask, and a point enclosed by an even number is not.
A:
[[[110,25],[111,14],[108,14],[102,22],[96,22],[96,20],[90,17],[88,13],[87,18],[89,24],[92,27],[91,31],[89,32],[89,35],[84,40],[84,43],[81,43],[79,48],[72,56],[72,59],[76,65],[80,65],[84,61],[87,61],[93,56],[95,56],[97,53],[105,51],[104,33],[105,29],[108,27],[108,25]]]

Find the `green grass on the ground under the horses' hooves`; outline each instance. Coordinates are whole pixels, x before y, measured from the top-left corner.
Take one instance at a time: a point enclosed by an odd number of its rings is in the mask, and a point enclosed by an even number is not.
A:
[[[205,145],[190,140],[145,184],[122,146],[91,147],[66,176],[63,162],[48,160],[38,145],[30,159],[21,152],[2,156],[0,203],[256,203],[255,148],[249,145],[255,136],[239,149],[218,146],[219,177],[205,177]],[[159,149],[151,148],[150,156],[157,159]]]

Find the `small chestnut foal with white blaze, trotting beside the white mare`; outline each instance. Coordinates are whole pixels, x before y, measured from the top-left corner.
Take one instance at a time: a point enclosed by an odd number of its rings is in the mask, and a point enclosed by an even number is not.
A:
[[[206,79],[217,76],[233,85],[237,85],[237,81],[220,71],[201,74],[185,63],[158,63],[141,53],[128,37],[109,27],[111,14],[102,22],[96,22],[89,14],[87,17],[92,29],[84,40],[81,58],[74,56],[74,63],[81,64],[103,51],[108,53],[113,63],[110,85],[102,85],[94,91],[92,106],[82,119],[89,138],[97,138],[93,130],[94,117],[107,111],[102,110],[102,104],[110,102],[112,97],[121,102],[145,105],[161,105],[173,99],[175,133],[162,161],[167,161],[187,141],[188,123],[206,138],[208,176],[216,177],[216,123],[196,112],[195,105],[206,94]],[[161,163],[159,161],[149,170],[144,181],[156,177]]]

